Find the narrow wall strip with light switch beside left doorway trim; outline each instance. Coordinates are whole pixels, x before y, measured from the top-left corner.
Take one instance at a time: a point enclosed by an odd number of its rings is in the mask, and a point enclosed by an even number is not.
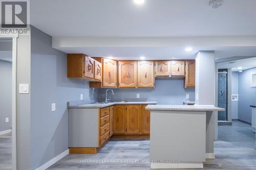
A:
[[[17,38],[17,89],[22,83],[30,84],[30,36]],[[30,169],[30,94],[17,92],[16,129],[17,169]]]

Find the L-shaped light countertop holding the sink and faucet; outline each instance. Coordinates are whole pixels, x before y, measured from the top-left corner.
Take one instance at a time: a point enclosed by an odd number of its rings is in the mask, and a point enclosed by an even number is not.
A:
[[[157,102],[109,102],[109,103],[91,103],[84,105],[69,106],[69,108],[103,108],[112,105],[154,105]]]

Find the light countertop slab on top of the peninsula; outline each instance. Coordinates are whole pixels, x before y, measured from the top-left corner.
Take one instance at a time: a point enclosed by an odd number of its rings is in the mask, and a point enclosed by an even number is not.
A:
[[[147,105],[146,110],[170,110],[170,111],[224,111],[215,106],[204,105]]]

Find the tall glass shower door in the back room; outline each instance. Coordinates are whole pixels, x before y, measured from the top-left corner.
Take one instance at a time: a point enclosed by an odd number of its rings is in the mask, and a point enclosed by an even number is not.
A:
[[[225,111],[218,111],[218,120],[227,121],[227,69],[218,70],[218,107]]]

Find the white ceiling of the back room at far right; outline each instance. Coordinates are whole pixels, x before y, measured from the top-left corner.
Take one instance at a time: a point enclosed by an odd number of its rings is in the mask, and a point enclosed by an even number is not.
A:
[[[232,71],[238,71],[238,67],[242,67],[242,70],[256,67],[256,57],[235,60],[229,62],[223,62],[218,64],[219,68],[232,68]]]

